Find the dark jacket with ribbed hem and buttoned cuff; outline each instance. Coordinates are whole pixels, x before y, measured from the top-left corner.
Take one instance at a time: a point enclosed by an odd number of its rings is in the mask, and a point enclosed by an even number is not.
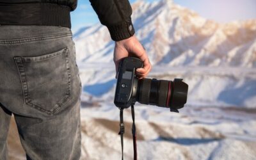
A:
[[[101,24],[108,27],[113,40],[123,40],[134,35],[131,22],[132,8],[129,0],[90,0],[90,3]],[[69,12],[75,10],[76,6],[77,0],[0,0],[0,24],[29,25],[29,23],[35,22],[35,25],[53,24],[52,26],[71,27]],[[26,12],[23,11],[24,9]],[[18,12],[19,10],[20,12]],[[4,15],[6,12],[8,12],[7,17]],[[19,18],[20,13],[25,14],[25,16],[22,15],[22,18]],[[10,14],[13,15],[14,19],[17,17],[19,22],[15,20],[13,22]],[[31,17],[31,15],[35,16]],[[38,20],[38,17],[42,17],[40,19],[45,22]],[[65,20],[61,21],[60,18]],[[58,23],[52,22],[52,20],[58,21]]]

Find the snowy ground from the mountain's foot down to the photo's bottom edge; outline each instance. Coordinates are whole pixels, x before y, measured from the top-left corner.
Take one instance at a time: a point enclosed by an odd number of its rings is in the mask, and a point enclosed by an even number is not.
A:
[[[81,75],[92,77],[83,83],[84,94],[88,95],[83,94],[81,100],[97,102],[97,106],[89,104],[81,109],[83,159],[120,159],[119,109],[113,104],[114,65],[86,63],[80,68]],[[188,102],[180,113],[136,103],[138,159],[255,159],[254,68],[158,65],[149,77],[182,77],[189,84]],[[86,92],[86,85],[100,87],[93,92],[102,95]],[[88,99],[89,96],[93,98]],[[132,159],[129,109],[125,110],[124,119],[125,159]],[[97,154],[99,151],[101,154]]]

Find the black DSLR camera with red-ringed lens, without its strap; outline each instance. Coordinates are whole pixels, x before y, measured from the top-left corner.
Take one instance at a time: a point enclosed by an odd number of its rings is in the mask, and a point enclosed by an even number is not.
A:
[[[187,101],[188,84],[182,79],[174,81],[157,79],[138,79],[136,68],[143,67],[143,62],[134,57],[124,58],[119,66],[115,91],[115,106],[120,109],[140,102],[179,112]]]

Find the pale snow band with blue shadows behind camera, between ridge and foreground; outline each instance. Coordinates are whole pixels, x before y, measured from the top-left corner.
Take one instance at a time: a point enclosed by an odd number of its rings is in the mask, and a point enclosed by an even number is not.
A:
[[[88,70],[83,69],[90,68]],[[113,101],[114,64],[86,63],[81,68],[83,91],[98,100]],[[189,84],[188,104],[256,108],[256,70],[244,67],[170,67],[152,68],[149,78],[184,79]]]

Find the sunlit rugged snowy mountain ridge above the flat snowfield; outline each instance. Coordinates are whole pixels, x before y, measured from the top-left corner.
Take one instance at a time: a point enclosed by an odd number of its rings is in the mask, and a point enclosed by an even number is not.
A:
[[[157,65],[256,67],[256,20],[218,24],[170,0],[132,5],[132,20]],[[96,24],[74,35],[77,60],[111,62],[114,43]]]

